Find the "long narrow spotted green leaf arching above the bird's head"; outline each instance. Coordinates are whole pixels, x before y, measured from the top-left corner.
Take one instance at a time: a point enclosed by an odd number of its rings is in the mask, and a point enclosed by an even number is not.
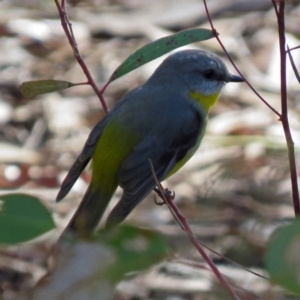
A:
[[[131,54],[111,75],[108,82],[129,73],[130,71],[158,58],[171,50],[214,37],[211,30],[192,28],[179,31],[149,43]]]

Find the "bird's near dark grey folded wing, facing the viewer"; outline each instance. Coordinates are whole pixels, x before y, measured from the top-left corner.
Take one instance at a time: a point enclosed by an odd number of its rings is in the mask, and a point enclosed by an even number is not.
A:
[[[158,141],[155,135],[144,138],[124,160],[118,173],[118,183],[123,188],[123,196],[110,213],[106,226],[121,223],[133,208],[139,204],[156,186],[151,170],[154,168],[157,180],[165,179],[187,152],[196,145],[201,134],[203,120],[197,113],[194,121],[180,136],[172,140]]]

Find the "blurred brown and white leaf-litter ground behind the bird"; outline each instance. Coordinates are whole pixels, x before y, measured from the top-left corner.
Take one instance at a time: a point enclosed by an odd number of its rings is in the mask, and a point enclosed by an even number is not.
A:
[[[179,30],[210,28],[202,1],[70,0],[68,15],[79,50],[101,88],[137,48]],[[213,23],[239,70],[280,112],[280,57],[277,19],[270,0],[209,0]],[[286,39],[300,45],[300,4],[286,2]],[[215,40],[186,48],[219,55]],[[299,66],[299,50],[293,57]],[[163,58],[113,82],[105,92],[109,107],[142,84]],[[289,64],[288,64],[289,65]],[[288,66],[288,106],[297,159],[300,144],[299,83]],[[57,230],[18,247],[0,248],[0,299],[28,299],[27,291],[47,272],[50,249],[77,207],[87,169],[64,201],[55,197],[61,181],[93,126],[104,116],[89,86],[22,97],[24,81],[85,76],[61,28],[54,1],[0,1],[0,188],[41,198],[53,212]],[[176,122],[176,120],[174,120]],[[209,247],[264,274],[267,241],[294,217],[288,157],[281,123],[245,83],[226,86],[212,109],[197,154],[164,187],[197,237]],[[118,190],[110,208],[120,196]],[[168,261],[120,283],[115,299],[230,299],[167,208],[149,196],[127,222],[160,231],[170,242]],[[292,299],[267,280],[210,253],[241,299]],[[195,264],[202,268],[194,268]],[[294,298],[296,299],[296,298]]]

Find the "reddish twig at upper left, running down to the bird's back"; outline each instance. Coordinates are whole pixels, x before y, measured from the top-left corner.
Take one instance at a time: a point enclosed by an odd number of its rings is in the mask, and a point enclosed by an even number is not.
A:
[[[93,79],[87,65],[85,64],[85,62],[78,50],[78,46],[77,46],[77,43],[76,43],[76,40],[75,40],[75,37],[73,34],[72,24],[70,23],[70,21],[68,19],[65,0],[61,0],[61,4],[59,3],[59,0],[54,0],[54,1],[55,1],[55,4],[56,4],[58,12],[59,12],[61,25],[62,25],[64,32],[69,40],[69,43],[73,49],[74,56],[75,56],[77,62],[79,63],[79,65],[81,66],[85,76],[87,77],[87,80],[88,80],[87,84],[89,84],[93,88],[93,90],[95,91],[96,95],[98,96],[98,98],[102,104],[104,111],[107,113],[108,106],[103,97],[103,90],[100,91],[98,89],[95,80]]]

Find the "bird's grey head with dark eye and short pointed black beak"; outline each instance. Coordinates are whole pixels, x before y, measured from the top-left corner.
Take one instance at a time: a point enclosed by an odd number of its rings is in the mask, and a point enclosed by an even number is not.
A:
[[[155,84],[183,83],[189,91],[204,95],[219,93],[228,82],[242,82],[243,78],[228,72],[224,62],[203,50],[183,50],[171,54],[156,69],[148,82]],[[181,85],[182,86],[182,85]]]

